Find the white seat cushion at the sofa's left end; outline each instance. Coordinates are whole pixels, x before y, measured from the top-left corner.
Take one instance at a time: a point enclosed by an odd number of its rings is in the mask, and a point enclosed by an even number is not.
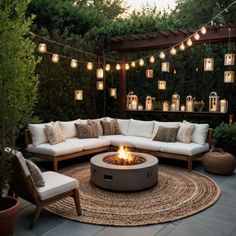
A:
[[[37,146],[29,144],[27,151],[40,153],[48,156],[61,156],[74,152],[80,152],[83,150],[83,146],[80,144],[78,138],[66,139],[63,143],[51,145],[49,143],[43,143]]]

